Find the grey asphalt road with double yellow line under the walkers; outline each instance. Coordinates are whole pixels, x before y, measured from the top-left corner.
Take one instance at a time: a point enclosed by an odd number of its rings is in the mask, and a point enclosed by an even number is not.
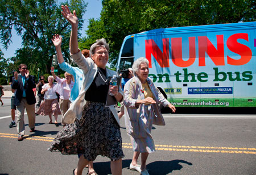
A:
[[[48,116],[36,116],[36,132],[17,141],[16,127],[9,128],[10,99],[0,106],[0,174],[72,174],[77,156],[49,152],[47,148],[62,128],[48,124]],[[166,126],[154,126],[156,152],[148,156],[152,174],[256,174],[256,115],[164,114]],[[59,116],[60,122],[60,116]],[[123,173],[133,156],[130,139],[121,119]],[[139,159],[140,161],[140,159]],[[98,156],[97,174],[111,174],[110,160]],[[87,173],[87,169],[83,174]]]

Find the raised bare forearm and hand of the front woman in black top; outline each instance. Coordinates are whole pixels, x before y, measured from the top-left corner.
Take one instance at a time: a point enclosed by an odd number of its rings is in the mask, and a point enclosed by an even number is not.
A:
[[[65,19],[68,20],[68,22],[71,24],[72,26],[72,31],[71,31],[71,37],[69,40],[69,48],[70,48],[70,53],[76,54],[79,52],[79,48],[78,48],[78,41],[77,41],[77,30],[78,30],[78,24],[79,24],[79,20],[77,18],[76,15],[76,11],[72,12],[69,10],[68,6],[61,6],[61,14],[64,16]]]

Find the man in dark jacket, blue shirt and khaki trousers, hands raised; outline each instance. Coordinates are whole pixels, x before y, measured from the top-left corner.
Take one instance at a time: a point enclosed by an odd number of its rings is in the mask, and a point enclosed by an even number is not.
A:
[[[12,89],[16,89],[15,94],[15,105],[17,109],[17,132],[18,141],[23,140],[23,135],[25,134],[25,124],[24,124],[24,111],[26,109],[28,116],[28,126],[30,127],[30,132],[35,132],[35,94],[33,89],[35,85],[35,77],[30,75],[27,70],[26,64],[19,65],[19,72],[14,73],[13,86]]]

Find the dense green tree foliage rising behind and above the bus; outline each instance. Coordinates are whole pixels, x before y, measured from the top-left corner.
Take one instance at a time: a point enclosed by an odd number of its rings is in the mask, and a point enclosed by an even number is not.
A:
[[[248,22],[256,14],[254,0],[102,0],[102,6],[100,19],[110,43],[112,66],[127,35],[156,28]]]

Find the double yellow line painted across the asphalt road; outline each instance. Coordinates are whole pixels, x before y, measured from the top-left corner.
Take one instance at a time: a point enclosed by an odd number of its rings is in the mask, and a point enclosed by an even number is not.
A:
[[[0,133],[0,138],[17,139],[16,134]],[[42,136],[25,135],[24,140],[39,140],[52,142],[54,138]],[[122,143],[123,148],[132,149],[131,143]],[[204,147],[204,146],[183,146],[183,145],[155,145],[156,150],[177,151],[177,152],[201,152],[201,153],[236,153],[256,155],[256,148],[238,148],[238,147]]]

